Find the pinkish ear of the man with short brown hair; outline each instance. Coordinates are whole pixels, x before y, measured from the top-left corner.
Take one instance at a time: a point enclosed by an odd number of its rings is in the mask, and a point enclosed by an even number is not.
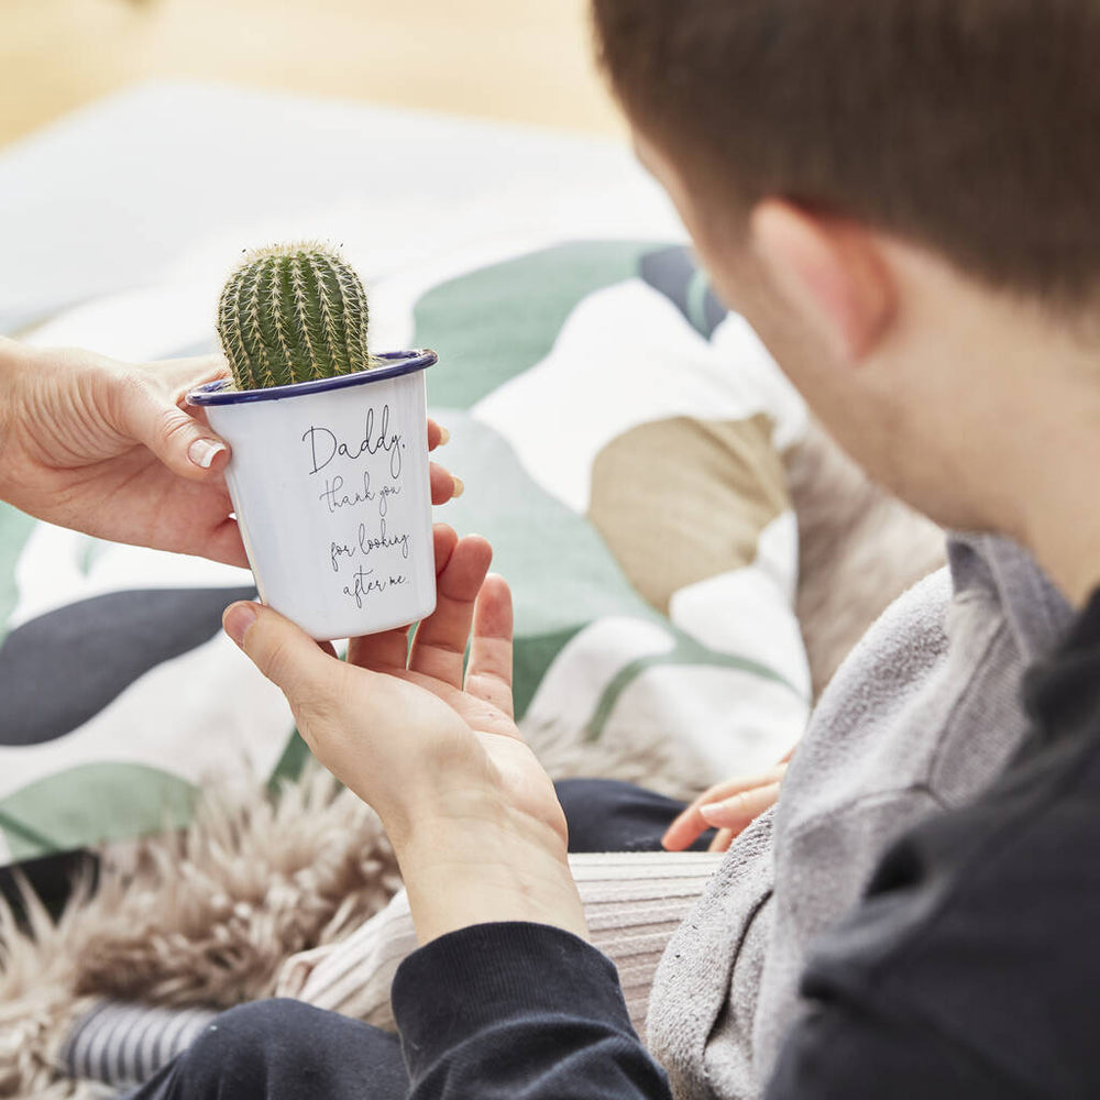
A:
[[[776,289],[844,363],[861,362],[893,318],[897,287],[876,234],[840,218],[766,199],[751,246]]]

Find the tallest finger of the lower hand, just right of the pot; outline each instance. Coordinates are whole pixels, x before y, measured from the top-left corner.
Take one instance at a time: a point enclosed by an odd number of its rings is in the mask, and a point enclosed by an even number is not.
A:
[[[409,652],[409,670],[454,688],[462,686],[462,662],[493,548],[480,535],[460,539],[439,574],[436,610],[417,629]]]

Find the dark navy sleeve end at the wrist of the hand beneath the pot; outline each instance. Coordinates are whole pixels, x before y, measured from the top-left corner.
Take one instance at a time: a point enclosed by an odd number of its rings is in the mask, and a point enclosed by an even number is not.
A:
[[[612,961],[541,924],[482,924],[394,979],[409,1100],[671,1100]]]

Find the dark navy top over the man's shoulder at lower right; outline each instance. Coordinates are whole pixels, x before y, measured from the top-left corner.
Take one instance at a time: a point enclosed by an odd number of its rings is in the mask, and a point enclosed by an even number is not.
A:
[[[1100,1097],[1100,597],[1026,700],[1004,773],[815,942],[767,1100]]]

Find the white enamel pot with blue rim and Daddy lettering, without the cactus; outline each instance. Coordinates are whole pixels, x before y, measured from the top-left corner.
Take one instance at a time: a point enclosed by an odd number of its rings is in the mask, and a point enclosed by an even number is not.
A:
[[[436,608],[426,367],[387,352],[358,374],[187,396],[232,448],[226,471],[260,598],[319,641]]]

